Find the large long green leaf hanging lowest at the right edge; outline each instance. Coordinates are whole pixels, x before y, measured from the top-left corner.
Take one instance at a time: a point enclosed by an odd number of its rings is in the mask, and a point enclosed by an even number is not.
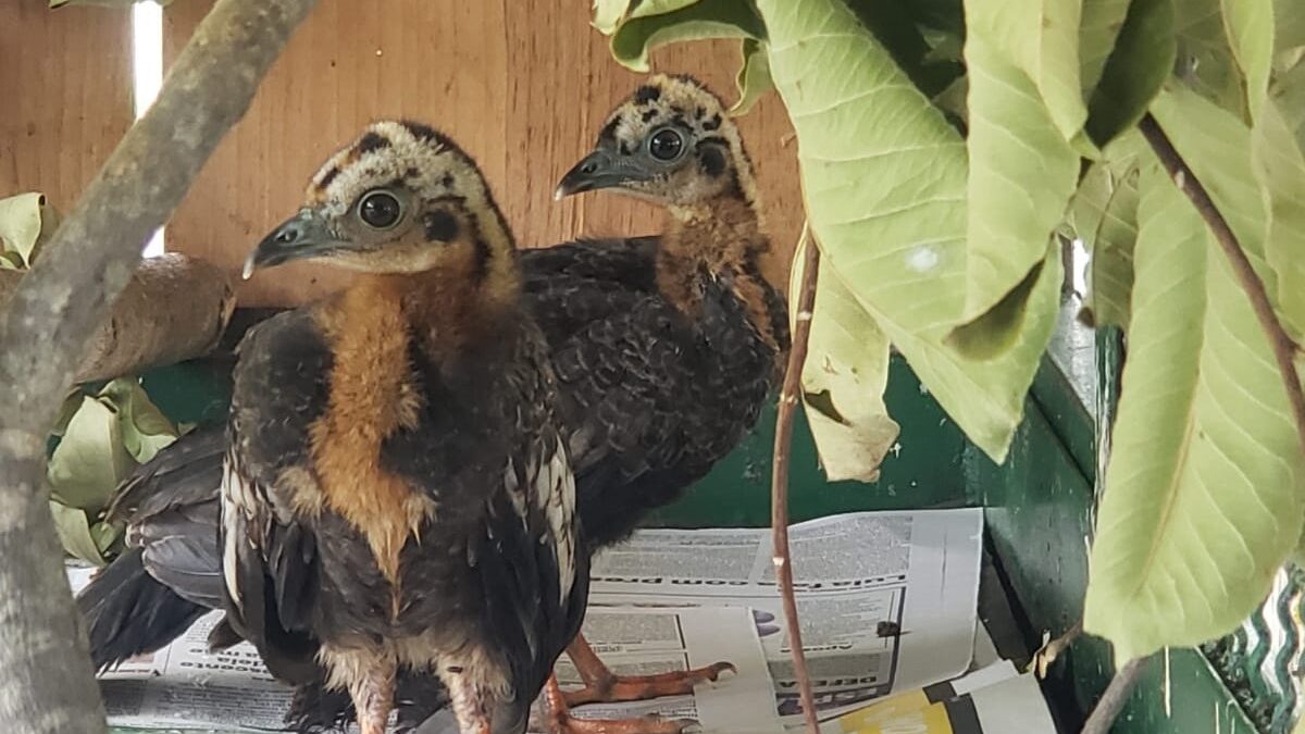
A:
[[[1141,182],[1124,393],[1084,628],[1118,660],[1218,637],[1301,535],[1302,456],[1246,294],[1190,201]]]

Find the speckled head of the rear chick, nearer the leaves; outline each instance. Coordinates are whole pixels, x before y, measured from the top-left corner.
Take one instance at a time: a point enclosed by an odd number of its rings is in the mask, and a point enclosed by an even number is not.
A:
[[[739,128],[720,98],[686,76],[656,74],[622,101],[556,196],[602,188],[672,206],[756,199]]]

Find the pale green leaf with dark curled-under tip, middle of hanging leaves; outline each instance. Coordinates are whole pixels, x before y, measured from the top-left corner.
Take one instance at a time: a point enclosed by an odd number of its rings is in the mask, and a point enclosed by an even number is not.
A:
[[[976,10],[977,12],[977,10]],[[1061,136],[1037,88],[1022,69],[989,44],[975,18],[966,40],[970,69],[970,206],[967,215],[966,307],[963,319],[996,342],[958,338],[958,347],[1014,343],[1024,298],[1047,252],[1052,230],[1078,183],[1078,154]],[[1077,89],[1077,88],[1075,88]],[[1002,317],[987,312],[1002,306]],[[1006,334],[992,332],[1005,324]],[[992,354],[971,353],[990,358]]]

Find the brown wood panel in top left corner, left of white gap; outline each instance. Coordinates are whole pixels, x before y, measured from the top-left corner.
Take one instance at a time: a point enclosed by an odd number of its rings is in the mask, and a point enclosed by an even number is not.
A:
[[[132,124],[130,12],[0,3],[0,196],[67,212]]]

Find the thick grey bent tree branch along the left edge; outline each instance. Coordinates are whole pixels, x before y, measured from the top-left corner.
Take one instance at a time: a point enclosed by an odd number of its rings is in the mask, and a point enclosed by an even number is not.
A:
[[[218,0],[158,102],[46,244],[0,313],[0,720],[20,734],[104,731],[44,475],[46,432],[149,235],[181,201],[315,0]]]

